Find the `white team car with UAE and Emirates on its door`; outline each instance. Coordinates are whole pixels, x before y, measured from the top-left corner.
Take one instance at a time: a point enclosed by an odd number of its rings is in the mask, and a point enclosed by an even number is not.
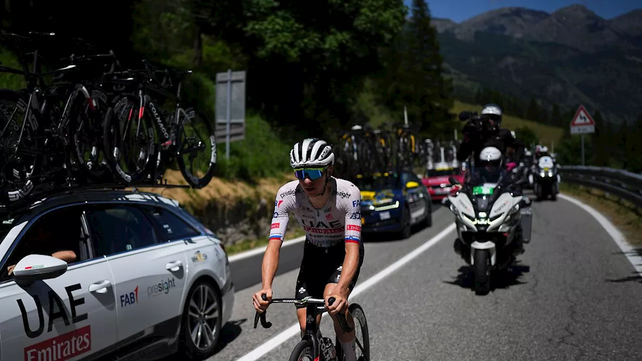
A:
[[[229,261],[175,200],[74,191],[0,219],[1,360],[214,352],[234,303]]]

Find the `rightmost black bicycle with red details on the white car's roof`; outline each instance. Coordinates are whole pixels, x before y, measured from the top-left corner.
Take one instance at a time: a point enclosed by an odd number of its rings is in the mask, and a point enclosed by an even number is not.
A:
[[[137,180],[152,180],[153,182],[162,177],[166,163],[176,157],[178,168],[190,186],[203,188],[214,176],[216,137],[214,137],[211,122],[203,112],[200,112],[196,107],[182,104],[182,83],[184,78],[191,74],[191,70],[169,68],[159,70],[146,60],[143,60],[143,65],[144,69],[141,70],[114,73],[115,75],[134,76],[132,80],[137,82],[139,90],[137,94],[120,94],[112,101],[114,105],[112,109],[108,110],[105,117],[105,137],[108,132],[116,128],[120,134],[123,134],[123,136],[116,138],[122,138],[121,141],[124,143],[126,142],[125,134],[135,128],[134,143],[143,143],[140,152],[124,152],[129,157],[139,157],[137,160],[130,159],[135,163],[135,171],[124,170],[121,159],[115,159],[116,174],[120,175],[125,182]],[[157,75],[164,77],[162,82],[156,80]],[[176,86],[172,79],[178,82]],[[175,92],[170,92],[168,89],[175,89]],[[175,103],[174,111],[169,113],[155,105],[155,100],[152,101],[148,91],[171,98]],[[137,111],[134,111],[135,109]],[[135,118],[133,121],[132,117]],[[130,128],[130,125],[134,127]],[[188,125],[193,126],[195,136],[187,134]],[[202,132],[205,133],[204,136],[200,134]],[[207,146],[210,147],[209,152],[207,152]],[[107,147],[122,149],[122,145],[118,144]],[[204,150],[205,152],[202,152]],[[202,159],[194,164],[195,157],[200,154],[206,155],[207,159]],[[186,159],[183,158],[185,155],[189,155],[188,161],[191,163],[189,168]],[[143,164],[140,164],[141,161]],[[203,166],[204,163],[207,163],[205,170],[200,168],[195,170],[195,165],[197,167]]]

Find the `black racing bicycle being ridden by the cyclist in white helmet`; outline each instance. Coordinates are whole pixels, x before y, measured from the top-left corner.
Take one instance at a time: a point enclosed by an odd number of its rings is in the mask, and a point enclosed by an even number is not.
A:
[[[265,294],[261,295],[263,301],[267,301]],[[328,304],[332,305],[334,297],[330,297]],[[336,346],[333,345],[332,340],[327,337],[323,337],[321,331],[317,325],[317,315],[324,313],[325,309],[325,300],[324,299],[315,299],[312,297],[305,297],[302,300],[290,299],[290,298],[278,298],[272,299],[272,303],[293,303],[295,305],[306,306],[306,333],[303,335],[300,342],[292,350],[289,360],[290,361],[343,361],[343,349],[338,339],[335,339]],[[256,312],[254,315],[254,328],[256,328],[259,319],[261,320],[261,326],[263,328],[272,327],[272,322],[266,321],[266,312],[263,313]],[[365,319],[365,313],[359,304],[352,303],[348,307],[348,312],[352,315],[352,318],[355,321],[359,321],[360,328],[357,329],[361,331],[363,342],[360,342],[359,337],[356,334],[356,351],[357,351],[357,360],[358,361],[370,361],[370,339],[368,335],[368,324]],[[350,332],[352,328],[347,324],[345,315],[338,314],[337,319],[343,332]],[[355,322],[356,323],[356,322]],[[355,324],[356,326],[356,324]],[[334,355],[332,350],[334,349]]]

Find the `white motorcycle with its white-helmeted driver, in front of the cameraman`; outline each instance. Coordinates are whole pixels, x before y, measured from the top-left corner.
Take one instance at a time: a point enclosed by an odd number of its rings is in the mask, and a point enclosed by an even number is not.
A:
[[[491,271],[512,265],[530,242],[532,213],[530,198],[507,183],[498,148],[484,148],[475,163],[469,165],[469,182],[442,204],[455,215],[455,252],[472,266],[473,289],[483,295],[490,292]]]

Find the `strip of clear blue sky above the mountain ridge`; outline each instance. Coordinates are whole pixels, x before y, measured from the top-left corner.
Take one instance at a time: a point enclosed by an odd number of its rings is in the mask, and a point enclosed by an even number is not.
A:
[[[404,3],[410,7],[412,0],[404,0]],[[582,4],[604,19],[642,8],[639,0],[428,0],[433,17],[445,17],[456,22],[507,6],[521,6],[550,13],[571,4]]]

